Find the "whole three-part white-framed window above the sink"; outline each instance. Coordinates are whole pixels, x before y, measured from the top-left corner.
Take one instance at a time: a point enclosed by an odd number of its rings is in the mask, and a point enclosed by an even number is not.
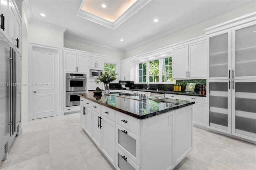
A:
[[[166,58],[138,63],[138,83],[146,83],[147,81],[150,83],[175,83],[172,79],[171,55]]]

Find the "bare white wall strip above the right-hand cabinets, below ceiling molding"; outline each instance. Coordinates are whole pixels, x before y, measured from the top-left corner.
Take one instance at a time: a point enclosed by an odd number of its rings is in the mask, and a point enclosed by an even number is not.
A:
[[[206,28],[221,24],[223,22],[238,18],[240,16],[244,16],[246,14],[250,14],[255,11],[256,11],[256,1],[246,6],[237,8],[236,10],[233,10],[226,14],[222,14],[220,16],[217,16],[215,18],[212,18],[210,20],[207,20],[205,22],[202,22],[200,24],[187,28],[185,30],[182,30],[180,32],[176,32],[175,34],[172,34],[170,36],[166,36],[164,38],[148,43],[136,49],[127,51],[125,52],[125,58],[133,57],[136,55],[146,53],[148,51],[152,51],[154,49],[158,49],[161,47],[172,45],[174,43],[182,42],[184,40],[202,36],[205,34],[204,30]]]

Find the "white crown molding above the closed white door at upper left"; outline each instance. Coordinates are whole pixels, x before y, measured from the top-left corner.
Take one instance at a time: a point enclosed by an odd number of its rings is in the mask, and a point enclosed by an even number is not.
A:
[[[64,28],[64,27],[61,27],[61,26],[50,24],[48,22],[43,22],[43,21],[39,21],[39,20],[34,19],[33,15],[32,15],[32,11],[31,11],[31,6],[30,6],[30,1],[29,0],[24,0],[22,2],[22,5],[23,5],[23,8],[24,8],[25,14],[27,16],[28,22],[30,24],[35,24],[35,25],[38,25],[38,26],[50,28],[50,29],[53,29],[53,30],[61,31],[61,32],[66,31],[67,28]]]

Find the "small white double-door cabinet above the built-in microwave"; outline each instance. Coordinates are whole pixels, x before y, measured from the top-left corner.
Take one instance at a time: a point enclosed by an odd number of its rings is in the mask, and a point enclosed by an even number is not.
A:
[[[89,53],[87,59],[87,67],[94,67],[97,69],[104,69],[104,55]]]

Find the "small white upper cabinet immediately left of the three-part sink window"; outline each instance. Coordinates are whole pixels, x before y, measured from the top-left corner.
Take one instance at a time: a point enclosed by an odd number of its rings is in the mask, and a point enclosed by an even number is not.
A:
[[[134,81],[135,65],[132,61],[121,61],[120,63],[120,80]]]

